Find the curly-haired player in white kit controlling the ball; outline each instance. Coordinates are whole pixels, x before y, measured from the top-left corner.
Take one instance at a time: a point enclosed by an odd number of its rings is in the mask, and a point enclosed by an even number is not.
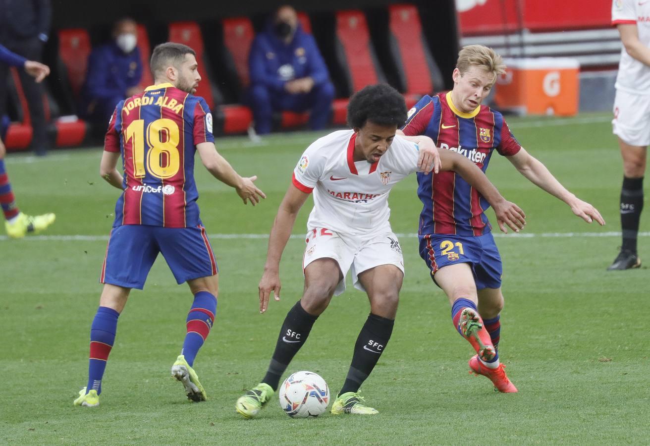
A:
[[[259,282],[260,311],[266,311],[273,292],[279,300],[280,257],[298,211],[313,192],[303,257],[304,293],[287,314],[266,376],[237,400],[235,408],[244,417],[257,415],[272,397],[313,323],[332,296],[343,293],[348,270],[354,286],[368,295],[370,315],[331,413],[378,413],[363,404],[358,390],[391,337],[404,277],[402,250],[388,220],[388,194],[418,168],[430,172],[431,163],[422,162],[419,152],[427,151],[422,158],[428,159],[435,151],[428,137],[396,136],[405,121],[401,94],[388,85],[367,86],[350,99],[348,125],[352,129],[319,138],[300,157],[270,233]],[[450,150],[441,150],[439,158],[441,169],[461,174],[495,207],[502,230],[506,231],[505,225],[515,231],[523,228],[523,211],[507,202],[474,163]]]

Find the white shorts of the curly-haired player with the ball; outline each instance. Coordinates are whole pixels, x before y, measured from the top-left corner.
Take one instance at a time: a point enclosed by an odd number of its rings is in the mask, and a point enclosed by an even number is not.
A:
[[[359,283],[359,274],[379,265],[395,265],[404,274],[404,257],[396,235],[385,232],[371,237],[351,237],[323,228],[307,232],[307,246],[302,257],[302,270],[316,259],[329,257],[339,264],[343,279],[334,295],[345,291],[345,276],[352,270],[352,283],[356,289],[365,291]]]

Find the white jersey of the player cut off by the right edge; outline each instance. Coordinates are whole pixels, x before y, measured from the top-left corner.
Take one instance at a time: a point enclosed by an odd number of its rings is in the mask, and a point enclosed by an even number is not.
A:
[[[639,40],[650,47],[650,2],[613,0],[612,25],[636,24]],[[616,76],[616,88],[636,94],[650,94],[650,67],[621,49],[621,62]]]

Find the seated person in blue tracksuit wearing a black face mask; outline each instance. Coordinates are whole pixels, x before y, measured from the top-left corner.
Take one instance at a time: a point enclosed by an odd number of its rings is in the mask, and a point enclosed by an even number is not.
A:
[[[259,135],[270,133],[276,111],[311,111],[309,127],[326,127],[334,86],[316,41],[302,30],[294,8],[280,7],[255,36],[248,67],[248,103]]]

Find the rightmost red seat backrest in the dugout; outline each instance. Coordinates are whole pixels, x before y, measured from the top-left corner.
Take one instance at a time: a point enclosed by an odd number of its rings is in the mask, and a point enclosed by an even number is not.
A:
[[[417,101],[443,86],[442,75],[431,55],[417,8],[391,5],[389,8],[390,49],[397,66],[399,89],[408,102]],[[407,104],[409,108],[412,104]]]

